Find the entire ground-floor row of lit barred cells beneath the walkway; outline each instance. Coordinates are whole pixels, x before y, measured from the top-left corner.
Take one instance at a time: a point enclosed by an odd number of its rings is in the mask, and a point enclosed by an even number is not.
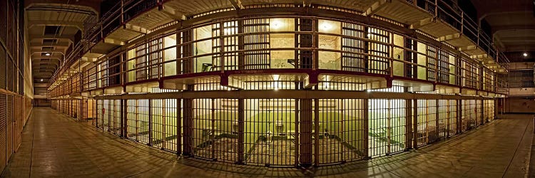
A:
[[[87,108],[96,109],[87,112],[98,117],[98,128],[162,150],[220,162],[296,166],[350,162],[421,147],[476,127],[484,117],[491,120],[494,104],[494,100],[141,99],[93,100]]]

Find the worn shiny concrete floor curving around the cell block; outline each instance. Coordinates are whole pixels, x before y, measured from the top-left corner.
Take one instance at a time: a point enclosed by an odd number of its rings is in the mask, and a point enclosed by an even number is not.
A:
[[[533,122],[531,115],[506,115],[411,152],[296,169],[177,158],[50,108],[34,108],[21,148],[2,177],[528,177]]]

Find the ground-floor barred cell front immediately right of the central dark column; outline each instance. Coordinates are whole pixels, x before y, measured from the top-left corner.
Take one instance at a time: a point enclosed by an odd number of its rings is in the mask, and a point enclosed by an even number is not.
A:
[[[366,157],[367,100],[316,100],[312,124],[316,164],[350,162]],[[370,112],[371,113],[371,112]]]

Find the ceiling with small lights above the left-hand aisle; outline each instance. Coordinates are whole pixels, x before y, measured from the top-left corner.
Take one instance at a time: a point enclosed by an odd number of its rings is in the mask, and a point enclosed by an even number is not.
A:
[[[76,33],[81,36],[84,21],[98,15],[94,7],[80,3],[26,1],[26,33],[34,83],[49,83],[73,45]]]

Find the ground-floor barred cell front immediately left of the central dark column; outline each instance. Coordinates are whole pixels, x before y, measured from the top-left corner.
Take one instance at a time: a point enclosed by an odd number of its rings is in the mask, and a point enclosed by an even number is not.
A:
[[[246,164],[297,165],[299,104],[293,99],[244,101]]]

